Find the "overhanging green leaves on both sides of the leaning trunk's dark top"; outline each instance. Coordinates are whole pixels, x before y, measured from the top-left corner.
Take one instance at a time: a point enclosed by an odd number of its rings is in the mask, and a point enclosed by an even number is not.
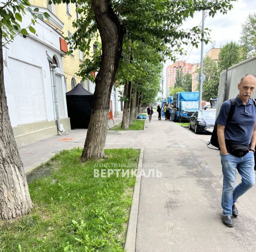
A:
[[[54,3],[76,2],[80,6],[78,13],[82,14],[82,17],[73,23],[77,31],[67,40],[72,41],[73,50],[80,49],[88,55],[84,64],[81,64],[78,74],[83,78],[93,80],[91,72],[99,70],[101,55],[89,56],[92,41],[97,40],[97,31],[100,30],[97,27],[94,12],[91,8],[91,0],[52,1]],[[49,4],[52,1],[49,0]],[[167,56],[171,60],[175,60],[178,55],[183,54],[183,44],[187,45],[188,42],[191,42],[192,45],[198,47],[203,34],[201,27],[198,26],[191,29],[182,29],[182,22],[189,16],[193,17],[194,12],[200,10],[209,10],[210,16],[214,16],[217,11],[225,14],[233,7],[230,3],[232,1],[235,0],[214,2],[205,0],[112,0],[110,5],[127,31],[123,42],[124,50],[134,42],[143,42],[151,45],[156,51],[162,51],[162,59]],[[209,41],[208,34],[206,28],[203,37],[206,44]]]

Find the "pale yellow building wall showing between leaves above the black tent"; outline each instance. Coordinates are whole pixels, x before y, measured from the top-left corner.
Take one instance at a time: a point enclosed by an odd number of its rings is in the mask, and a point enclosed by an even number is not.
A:
[[[34,0],[33,5],[41,6],[48,8],[53,15],[57,16],[59,20],[61,20],[64,24],[63,27],[58,27],[57,24],[52,23],[57,28],[60,28],[64,37],[71,37],[71,35],[75,32],[75,28],[72,26],[73,21],[80,18],[77,10],[77,4],[48,4],[48,0]],[[50,20],[51,21],[51,20]],[[94,48],[93,43],[91,45],[91,53]],[[89,81],[84,81],[82,83],[82,78],[76,75],[76,72],[79,71],[79,65],[83,62],[84,54],[80,50],[74,50],[74,52],[70,55],[65,55],[63,57],[63,69],[65,73],[65,86],[66,91],[70,91],[74,88],[78,83],[81,83],[88,91],[94,92],[94,87],[90,90]],[[90,85],[92,83],[90,82]]]

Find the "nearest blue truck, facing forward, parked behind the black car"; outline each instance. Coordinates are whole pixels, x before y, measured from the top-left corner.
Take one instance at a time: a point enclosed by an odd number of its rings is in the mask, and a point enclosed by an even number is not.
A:
[[[189,121],[190,117],[198,110],[199,92],[178,92],[173,95],[171,117],[175,121]]]

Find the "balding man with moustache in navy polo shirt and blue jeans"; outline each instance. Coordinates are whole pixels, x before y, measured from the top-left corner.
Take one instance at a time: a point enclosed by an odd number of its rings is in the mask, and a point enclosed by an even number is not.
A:
[[[232,118],[228,120],[231,102],[227,100],[222,104],[216,120],[223,172],[222,220],[230,228],[234,225],[231,215],[238,216],[236,201],[255,184],[256,108],[250,98],[255,87],[255,75],[242,76]],[[235,187],[236,169],[242,181]]]

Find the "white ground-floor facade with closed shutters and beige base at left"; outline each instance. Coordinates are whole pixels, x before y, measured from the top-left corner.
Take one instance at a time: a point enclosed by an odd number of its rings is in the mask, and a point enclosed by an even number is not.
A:
[[[32,6],[35,7],[35,6]],[[7,105],[15,140],[18,146],[58,134],[54,107],[53,74],[50,61],[55,63],[58,113],[63,132],[70,130],[66,108],[63,57],[66,45],[61,32],[62,21],[43,7],[38,13],[48,12],[50,22],[37,19],[36,34],[18,34],[4,48],[4,83]],[[22,25],[28,26],[31,15],[26,14]],[[67,45],[66,45],[67,46]]]

